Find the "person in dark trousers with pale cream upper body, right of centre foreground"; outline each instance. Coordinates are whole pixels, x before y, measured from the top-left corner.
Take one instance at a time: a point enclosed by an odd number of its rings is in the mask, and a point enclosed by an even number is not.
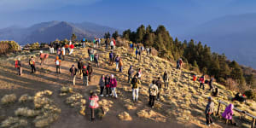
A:
[[[149,85],[149,102],[148,102],[148,106],[151,108],[154,108],[154,100],[155,100],[155,96],[157,96],[158,94],[158,87],[155,84],[155,81],[152,80],[152,84]]]

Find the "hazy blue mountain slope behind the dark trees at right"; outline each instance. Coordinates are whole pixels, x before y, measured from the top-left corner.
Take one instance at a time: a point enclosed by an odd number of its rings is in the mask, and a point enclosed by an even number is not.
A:
[[[193,38],[230,60],[256,68],[256,14],[229,15],[189,29],[178,37]]]

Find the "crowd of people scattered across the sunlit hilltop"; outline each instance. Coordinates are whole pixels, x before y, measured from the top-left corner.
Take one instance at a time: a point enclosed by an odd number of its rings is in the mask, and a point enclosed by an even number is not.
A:
[[[89,47],[88,48],[88,58],[89,62],[88,65],[85,65],[85,62],[82,58],[79,59],[77,67],[73,64],[72,67],[70,67],[69,72],[71,74],[71,79],[73,81],[73,85],[76,84],[76,76],[77,74],[79,75],[80,79],[83,79],[83,85],[88,86],[89,82],[91,80],[92,74],[93,74],[93,67],[92,67],[92,62],[95,62],[96,67],[99,67],[99,59],[100,55],[96,52],[96,47],[99,47],[101,44],[102,40],[100,38],[95,38],[93,41],[93,48]],[[113,63],[115,63],[115,68],[116,71],[119,71],[120,73],[123,72],[123,61],[121,56],[117,55],[114,53],[115,49],[115,40],[112,38],[106,38],[105,39],[105,45],[106,49],[108,49],[108,46],[110,46],[111,51],[109,52],[109,65],[113,66]],[[83,47],[85,48],[85,44],[83,44]],[[71,55],[73,53],[74,45],[72,42],[70,44],[64,44],[63,46],[59,46],[56,49],[56,56],[55,56],[55,68],[56,68],[56,73],[61,73],[61,60],[64,61],[66,53],[68,55]],[[143,46],[135,46],[134,44],[130,44],[130,50],[131,52],[134,52],[135,58],[138,60],[141,60],[141,55],[143,55],[143,51],[145,50]],[[147,55],[151,54],[151,48],[146,48]],[[49,53],[54,53],[54,49],[52,46],[49,48]],[[43,52],[40,52],[40,59],[41,59],[41,64],[44,63],[44,59],[48,58],[46,54],[43,54]],[[31,73],[36,73],[36,61],[33,56],[29,59],[29,65],[31,67],[32,72]],[[183,66],[183,60],[180,58],[177,60],[177,69],[182,69]],[[15,61],[15,67],[17,68],[18,75],[22,75],[22,62],[20,58],[18,58]],[[138,97],[139,97],[139,89],[141,87],[141,84],[143,84],[142,77],[143,77],[143,72],[142,69],[139,68],[137,70],[137,73],[135,73],[135,69],[133,66],[130,66],[128,70],[128,83],[131,84],[131,89],[132,89],[132,100],[133,102],[138,102]],[[163,82],[162,82],[162,80]],[[160,101],[160,96],[161,96],[161,90],[162,90],[162,85],[164,84],[164,89],[168,90],[169,89],[169,74],[167,71],[165,71],[162,75],[162,77],[158,77],[157,79],[152,80],[151,84],[148,85],[148,106],[150,108],[154,108],[154,102],[155,100]],[[205,74],[203,74],[199,79],[197,78],[196,75],[193,75],[194,82],[196,80],[199,81],[200,83],[200,88],[202,90],[205,90],[205,84],[209,84],[209,90],[212,90],[212,96],[218,96],[218,88],[213,85],[213,77],[211,77],[209,80],[206,80]],[[101,79],[99,80],[99,87],[100,87],[100,96],[112,96],[114,98],[118,98],[116,89],[118,86],[117,79],[114,77],[113,74],[103,74]],[[245,97],[240,96],[240,94],[236,94],[236,97],[233,100],[237,100],[240,102],[245,102]],[[95,92],[90,93],[89,97],[90,101],[90,110],[91,110],[91,120],[95,119],[95,109],[96,108],[101,108],[98,105],[99,97],[96,95]],[[233,108],[234,105],[230,104],[222,114],[223,118],[226,120],[225,122],[228,122],[230,120],[230,123],[232,125],[237,125],[234,120],[232,120],[232,115],[233,115]],[[102,112],[104,113],[103,109]],[[212,113],[214,112],[214,102],[212,97],[208,97],[208,103],[207,103],[207,108],[205,109],[205,114],[206,114],[206,120],[207,123],[206,125],[212,125]]]

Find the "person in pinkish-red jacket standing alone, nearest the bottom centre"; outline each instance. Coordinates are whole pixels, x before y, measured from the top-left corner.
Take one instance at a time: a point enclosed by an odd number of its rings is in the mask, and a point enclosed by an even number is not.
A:
[[[91,121],[95,120],[95,109],[99,108],[98,101],[99,101],[99,97],[96,95],[96,93],[90,92],[89,107],[90,107]],[[101,109],[102,109],[102,114],[105,114],[102,107],[101,107]]]

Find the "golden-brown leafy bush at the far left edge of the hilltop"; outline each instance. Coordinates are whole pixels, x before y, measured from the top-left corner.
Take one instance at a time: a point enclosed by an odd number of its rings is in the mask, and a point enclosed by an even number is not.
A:
[[[20,50],[20,45],[15,41],[0,41],[0,55]]]

